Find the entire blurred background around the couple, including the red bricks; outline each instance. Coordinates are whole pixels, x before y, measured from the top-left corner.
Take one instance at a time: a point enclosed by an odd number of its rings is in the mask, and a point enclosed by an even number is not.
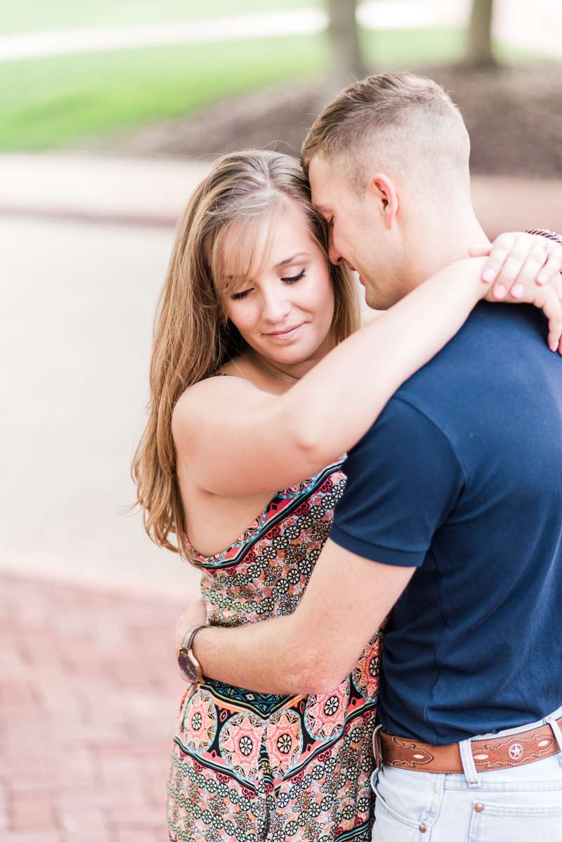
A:
[[[562,0],[2,3],[0,839],[167,838],[198,575],[123,511],[174,224],[212,157],[298,156],[346,84],[409,69],[463,113],[489,236],[562,231],[560,32]]]

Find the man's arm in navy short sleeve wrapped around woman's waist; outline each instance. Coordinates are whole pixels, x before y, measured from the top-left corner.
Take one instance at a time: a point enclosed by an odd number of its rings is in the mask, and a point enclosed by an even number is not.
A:
[[[464,477],[442,432],[399,399],[351,450],[345,472],[331,538],[295,613],[237,629],[201,629],[193,648],[204,674],[298,695],[334,690],[355,668],[426,557]],[[204,622],[204,612],[188,610],[176,645]]]

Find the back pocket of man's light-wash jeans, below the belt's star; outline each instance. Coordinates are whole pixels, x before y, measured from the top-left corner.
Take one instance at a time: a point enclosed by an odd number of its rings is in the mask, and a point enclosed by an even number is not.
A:
[[[562,803],[481,804],[474,811],[470,842],[562,842]]]

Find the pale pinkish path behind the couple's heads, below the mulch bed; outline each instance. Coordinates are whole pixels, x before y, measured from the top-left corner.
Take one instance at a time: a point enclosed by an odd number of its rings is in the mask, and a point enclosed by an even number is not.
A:
[[[63,152],[0,154],[0,213],[173,227],[209,162]],[[562,179],[474,175],[484,231],[562,231]]]

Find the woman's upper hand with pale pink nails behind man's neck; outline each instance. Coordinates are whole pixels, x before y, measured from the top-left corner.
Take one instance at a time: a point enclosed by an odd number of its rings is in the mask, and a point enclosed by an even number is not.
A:
[[[562,246],[540,234],[500,234],[490,245],[471,246],[468,253],[474,258],[489,255],[482,270],[482,280],[494,284],[489,301],[527,301],[529,286],[549,284],[562,270]]]

